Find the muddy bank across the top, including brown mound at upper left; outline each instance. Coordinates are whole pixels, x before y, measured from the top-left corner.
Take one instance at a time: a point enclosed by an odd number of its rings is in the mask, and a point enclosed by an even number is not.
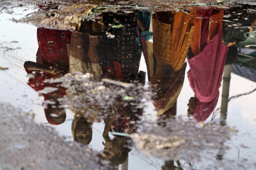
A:
[[[230,6],[237,4],[254,4],[255,1],[214,1],[214,0],[55,0],[55,1],[1,1],[0,2],[0,12],[6,12],[9,14],[14,13],[13,9],[22,7],[23,9],[34,9],[35,11],[27,14],[23,19],[15,20],[15,22],[26,22],[31,23],[36,27],[45,27],[49,29],[61,29],[70,31],[79,31],[81,20],[83,17],[87,16],[86,11],[90,11],[89,7],[85,4],[94,4],[99,8],[104,9],[112,5],[111,9],[117,11],[121,8],[127,8],[129,10],[147,10],[147,11],[173,11],[173,10],[183,10],[188,7],[218,7],[218,8],[229,8]],[[79,8],[78,4],[82,4]],[[132,7],[132,8],[131,8]],[[110,8],[109,8],[110,9]],[[92,19],[92,18],[91,18]]]

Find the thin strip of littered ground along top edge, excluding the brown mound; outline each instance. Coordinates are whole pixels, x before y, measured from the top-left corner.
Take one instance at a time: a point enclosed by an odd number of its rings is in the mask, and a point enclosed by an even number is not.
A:
[[[24,7],[24,6],[34,6],[39,8],[40,10],[46,9],[60,9],[63,7],[75,5],[75,4],[96,4],[96,5],[138,5],[141,7],[147,7],[151,9],[156,9],[161,7],[161,10],[169,10],[169,9],[178,9],[182,8],[187,5],[192,6],[205,6],[205,5],[215,5],[215,6],[230,6],[234,4],[255,4],[254,0],[246,0],[246,1],[239,1],[239,0],[226,0],[226,1],[219,1],[219,0],[55,0],[55,1],[31,1],[31,0],[3,0],[0,2],[0,11],[3,9],[11,9],[13,7]]]

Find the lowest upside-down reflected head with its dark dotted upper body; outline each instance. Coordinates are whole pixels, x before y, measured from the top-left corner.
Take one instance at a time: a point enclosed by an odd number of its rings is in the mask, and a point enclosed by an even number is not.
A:
[[[128,106],[122,106],[124,103]],[[115,105],[112,108],[113,114],[108,115],[104,119],[105,127],[102,136],[105,143],[102,142],[104,145],[102,159],[109,160],[111,165],[122,164],[127,159],[133,142],[130,137],[120,135],[114,135],[114,139],[110,139],[109,132],[135,133],[140,119],[139,117],[142,114],[142,108],[134,105],[137,102],[133,101],[131,104],[129,102],[124,103],[119,104],[119,106]]]

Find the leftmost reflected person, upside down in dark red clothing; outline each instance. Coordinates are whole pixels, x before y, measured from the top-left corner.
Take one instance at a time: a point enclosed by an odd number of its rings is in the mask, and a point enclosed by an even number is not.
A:
[[[36,54],[36,63],[32,61],[24,63],[27,73],[33,74],[28,85],[44,95],[46,118],[52,125],[65,122],[66,112],[62,107],[59,107],[58,99],[66,94],[66,88],[61,87],[60,83],[46,83],[44,81],[63,76],[68,72],[67,43],[70,38],[70,31],[38,28],[37,40],[39,47]],[[49,92],[47,89],[52,91]]]

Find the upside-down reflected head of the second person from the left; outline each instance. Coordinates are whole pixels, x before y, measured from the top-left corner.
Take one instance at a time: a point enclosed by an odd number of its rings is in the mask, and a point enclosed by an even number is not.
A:
[[[92,140],[92,128],[85,118],[80,118],[76,126],[76,139],[83,144],[89,144]]]

